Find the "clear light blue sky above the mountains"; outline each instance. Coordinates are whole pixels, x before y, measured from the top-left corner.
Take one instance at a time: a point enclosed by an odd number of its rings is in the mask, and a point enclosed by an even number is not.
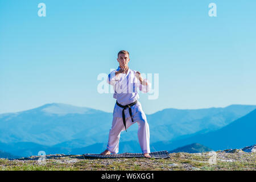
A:
[[[46,4],[46,17],[38,4]],[[208,15],[216,3],[217,17]],[[159,74],[146,114],[256,104],[256,2],[0,1],[0,113],[52,102],[113,111],[100,73],[130,52],[131,69]],[[154,84],[154,81],[153,83]]]

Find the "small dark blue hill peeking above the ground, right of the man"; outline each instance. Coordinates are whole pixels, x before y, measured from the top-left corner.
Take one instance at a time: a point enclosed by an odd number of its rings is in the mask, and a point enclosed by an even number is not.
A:
[[[200,143],[192,143],[187,146],[176,148],[175,150],[169,151],[169,153],[187,152],[187,153],[201,153],[212,151],[210,148],[203,146]]]

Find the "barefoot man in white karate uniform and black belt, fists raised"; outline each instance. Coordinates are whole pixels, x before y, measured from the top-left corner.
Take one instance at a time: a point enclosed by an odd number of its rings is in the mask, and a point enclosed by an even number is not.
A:
[[[101,155],[117,154],[121,131],[127,130],[133,123],[138,123],[138,138],[145,158],[150,156],[150,131],[146,115],[138,101],[138,88],[147,93],[151,83],[141,76],[141,73],[128,67],[130,61],[128,51],[119,51],[117,55],[119,67],[108,76],[108,83],[113,85],[117,99],[113,111],[112,128],[109,131],[107,149]]]

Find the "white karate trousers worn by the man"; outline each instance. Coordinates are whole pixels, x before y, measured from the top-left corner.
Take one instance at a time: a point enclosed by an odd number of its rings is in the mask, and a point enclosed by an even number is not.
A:
[[[113,112],[112,128],[109,131],[109,141],[107,149],[112,154],[117,154],[119,149],[119,139],[121,131],[125,131],[125,126],[123,125],[122,119],[122,107],[115,104]],[[128,129],[134,123],[138,123],[138,138],[141,150],[144,153],[150,153],[150,130],[147,123],[147,118],[142,110],[141,103],[137,101],[137,104],[131,106],[131,111],[133,114],[133,121],[131,122],[131,117],[129,114],[129,108],[125,109],[125,120],[126,129]]]

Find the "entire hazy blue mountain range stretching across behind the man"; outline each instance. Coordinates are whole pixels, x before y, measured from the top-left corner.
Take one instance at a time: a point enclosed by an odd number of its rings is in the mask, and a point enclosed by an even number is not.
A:
[[[148,114],[152,151],[174,150],[191,143],[201,143],[213,150],[250,145],[253,141],[255,144],[255,134],[246,133],[255,130],[255,118],[251,114],[255,109],[255,105],[230,105],[208,109],[171,108]],[[18,156],[37,155],[40,150],[47,154],[101,152],[108,142],[111,123],[112,113],[58,103],[0,114],[0,150]],[[135,124],[127,133],[121,133],[119,152],[141,152],[137,127]],[[215,135],[238,140],[225,143],[225,139]],[[251,139],[245,142],[245,137]]]

